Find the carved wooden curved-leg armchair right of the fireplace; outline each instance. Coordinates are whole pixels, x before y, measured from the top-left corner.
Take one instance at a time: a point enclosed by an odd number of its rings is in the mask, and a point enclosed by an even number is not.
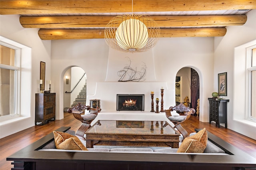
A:
[[[165,111],[166,117],[174,124],[173,128],[177,128],[184,138],[188,137],[189,134],[181,126],[181,123],[188,120],[190,118],[190,115],[194,114],[196,112],[195,109],[186,107],[186,106],[183,105],[183,103],[180,103],[179,105],[174,106],[174,107],[170,107],[169,109],[164,110],[164,111]],[[185,115],[184,116],[180,116],[180,115],[179,116],[178,115],[173,116],[172,113],[171,113],[172,111],[178,111],[180,113],[184,112]],[[166,125],[167,124],[165,124],[164,127]]]

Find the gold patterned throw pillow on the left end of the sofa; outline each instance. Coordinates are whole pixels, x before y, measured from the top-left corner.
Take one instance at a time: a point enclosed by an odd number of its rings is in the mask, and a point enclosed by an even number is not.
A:
[[[64,150],[88,150],[78,137],[65,132],[53,131],[54,141],[57,149]]]

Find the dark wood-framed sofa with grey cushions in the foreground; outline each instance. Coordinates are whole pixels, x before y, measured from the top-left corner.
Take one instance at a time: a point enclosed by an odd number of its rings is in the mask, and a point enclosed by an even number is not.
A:
[[[67,132],[70,127],[56,131]],[[199,131],[199,130],[196,130]],[[83,150],[59,150],[51,146],[50,133],[6,158],[19,170],[249,170],[256,158],[208,132],[204,153],[176,153],[175,148],[102,146]]]

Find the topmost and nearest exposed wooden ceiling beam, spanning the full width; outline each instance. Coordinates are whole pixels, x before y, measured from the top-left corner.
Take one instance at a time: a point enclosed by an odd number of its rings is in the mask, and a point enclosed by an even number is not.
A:
[[[134,0],[133,12],[256,9],[256,0]],[[132,0],[1,0],[0,14],[132,12]]]

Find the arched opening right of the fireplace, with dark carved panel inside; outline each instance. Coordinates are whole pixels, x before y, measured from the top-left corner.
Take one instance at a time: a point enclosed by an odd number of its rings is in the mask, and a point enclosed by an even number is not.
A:
[[[181,68],[176,74],[176,105],[183,103],[190,108],[194,108],[196,110],[196,114],[194,114],[194,116],[199,116],[199,98],[200,83],[197,71],[191,67]]]

